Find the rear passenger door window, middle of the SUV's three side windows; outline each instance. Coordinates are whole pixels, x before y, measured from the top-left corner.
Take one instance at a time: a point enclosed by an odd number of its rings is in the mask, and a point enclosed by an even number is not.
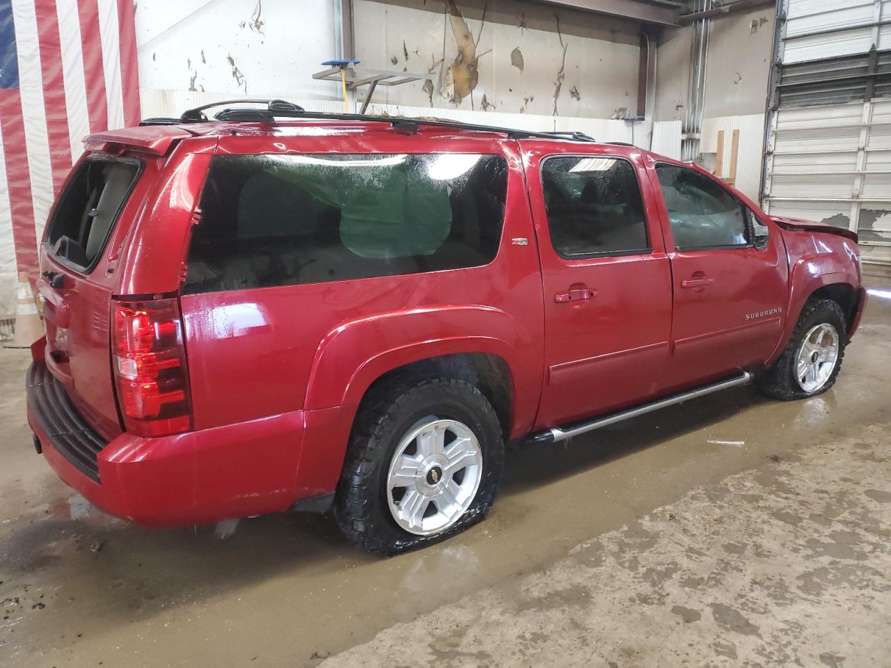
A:
[[[560,257],[650,250],[641,190],[631,163],[616,158],[548,158],[542,167],[551,243]]]

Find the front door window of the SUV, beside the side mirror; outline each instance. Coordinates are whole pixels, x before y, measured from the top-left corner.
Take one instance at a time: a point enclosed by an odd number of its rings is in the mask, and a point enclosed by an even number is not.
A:
[[[705,175],[684,167],[656,167],[675,248],[746,246],[747,210]]]

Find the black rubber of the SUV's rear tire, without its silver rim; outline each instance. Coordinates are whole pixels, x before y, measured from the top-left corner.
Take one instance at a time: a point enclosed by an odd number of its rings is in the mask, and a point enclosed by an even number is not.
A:
[[[463,515],[440,534],[410,534],[388,507],[387,475],[405,433],[425,416],[458,420],[477,436],[482,477]],[[372,389],[356,415],[334,501],[341,531],[372,554],[391,556],[445,540],[486,517],[501,485],[504,442],[498,416],[480,391],[462,380],[410,379]]]

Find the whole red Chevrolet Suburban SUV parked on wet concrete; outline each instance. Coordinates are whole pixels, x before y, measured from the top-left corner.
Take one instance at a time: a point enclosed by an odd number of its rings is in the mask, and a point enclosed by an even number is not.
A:
[[[825,392],[862,314],[853,232],[695,165],[211,106],[87,137],[40,249],[35,445],[119,517],[332,509],[394,554],[486,515],[505,442]]]

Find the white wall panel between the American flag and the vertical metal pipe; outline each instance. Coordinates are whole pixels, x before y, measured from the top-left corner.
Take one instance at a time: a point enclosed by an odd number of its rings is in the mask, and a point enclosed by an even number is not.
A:
[[[334,0],[143,0],[135,19],[142,88],[338,94],[312,77],[322,61],[339,57]]]

